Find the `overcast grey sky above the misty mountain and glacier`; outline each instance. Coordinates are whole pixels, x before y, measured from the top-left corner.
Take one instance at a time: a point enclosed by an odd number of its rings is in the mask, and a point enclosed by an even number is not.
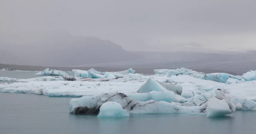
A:
[[[250,50],[255,16],[256,0],[0,0],[0,33],[62,30],[127,50]]]

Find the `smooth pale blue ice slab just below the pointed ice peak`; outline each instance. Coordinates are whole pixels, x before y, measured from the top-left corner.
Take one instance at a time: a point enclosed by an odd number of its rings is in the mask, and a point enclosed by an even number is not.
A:
[[[164,91],[164,92],[151,91],[148,93],[130,93],[126,95],[129,98],[134,98],[135,100],[139,100],[139,101],[156,100],[156,101],[172,102],[173,100],[175,100],[175,94],[172,91]]]

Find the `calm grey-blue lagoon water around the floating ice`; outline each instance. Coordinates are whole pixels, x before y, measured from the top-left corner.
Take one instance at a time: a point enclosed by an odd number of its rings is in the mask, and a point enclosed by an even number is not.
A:
[[[27,77],[35,76],[35,72],[31,74]],[[22,73],[16,76],[12,78],[25,77]],[[254,111],[214,118],[195,114],[131,114],[126,118],[102,119],[70,114],[70,99],[0,93],[0,134],[256,134]]]

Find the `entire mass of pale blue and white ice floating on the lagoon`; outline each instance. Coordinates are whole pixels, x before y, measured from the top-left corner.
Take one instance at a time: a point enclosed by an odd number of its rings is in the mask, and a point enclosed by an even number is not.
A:
[[[132,69],[104,73],[90,69],[73,70],[73,77],[0,77],[2,81],[17,81],[0,84],[0,92],[81,97],[70,100],[70,113],[101,117],[117,115],[111,113],[111,109],[102,107],[108,102],[118,103],[129,114],[198,113],[215,117],[237,110],[256,110],[255,71],[241,76],[205,74],[185,68],[154,71],[155,75],[147,76],[137,74]],[[113,109],[117,108],[115,104]]]

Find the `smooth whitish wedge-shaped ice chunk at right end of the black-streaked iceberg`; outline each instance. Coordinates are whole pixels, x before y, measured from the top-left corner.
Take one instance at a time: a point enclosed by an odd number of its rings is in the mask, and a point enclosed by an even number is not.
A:
[[[209,98],[206,117],[217,117],[231,114],[232,110],[225,100],[219,100],[215,97]]]

